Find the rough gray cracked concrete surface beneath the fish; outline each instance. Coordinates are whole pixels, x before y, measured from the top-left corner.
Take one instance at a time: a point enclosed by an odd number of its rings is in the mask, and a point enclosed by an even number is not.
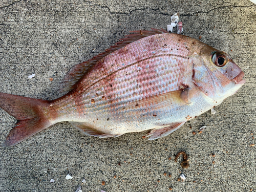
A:
[[[216,115],[207,112],[155,141],[138,133],[88,137],[69,123],[58,123],[0,148],[0,191],[75,191],[79,186],[88,192],[256,190],[256,146],[250,146],[256,144],[256,5],[247,0],[2,0],[0,92],[57,98],[59,82],[72,66],[131,30],[165,28],[176,11],[183,34],[202,36],[238,63],[247,79],[243,88],[218,106]],[[1,143],[14,124],[0,109]],[[206,130],[198,134],[202,125]],[[181,159],[174,161],[180,151],[189,155],[187,169]],[[187,178],[183,182],[178,181],[181,173]],[[66,180],[67,174],[73,179]]]

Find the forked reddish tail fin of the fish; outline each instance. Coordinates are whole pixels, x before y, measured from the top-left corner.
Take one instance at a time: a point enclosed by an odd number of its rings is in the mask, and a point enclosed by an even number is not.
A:
[[[48,105],[46,100],[0,93],[0,108],[18,120],[2,146],[15,145],[49,127],[51,123],[41,110]]]

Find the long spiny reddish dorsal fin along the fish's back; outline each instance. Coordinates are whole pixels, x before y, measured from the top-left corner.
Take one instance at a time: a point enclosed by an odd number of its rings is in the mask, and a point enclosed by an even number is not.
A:
[[[109,49],[106,49],[105,52],[100,53],[100,54],[94,56],[93,58],[72,67],[71,70],[65,75],[65,77],[61,81],[60,92],[70,91],[71,89],[73,89],[76,82],[84,74],[86,74],[89,71],[89,69],[91,69],[100,59],[102,59],[106,55],[109,55],[110,53],[112,53],[128,44],[131,44],[131,42],[134,42],[141,38],[151,36],[151,35],[161,34],[161,33],[168,33],[164,29],[151,28],[151,30],[152,31],[142,31],[142,30],[130,31],[133,34],[126,35],[125,38],[120,39],[120,41],[117,42],[116,45],[111,46]]]

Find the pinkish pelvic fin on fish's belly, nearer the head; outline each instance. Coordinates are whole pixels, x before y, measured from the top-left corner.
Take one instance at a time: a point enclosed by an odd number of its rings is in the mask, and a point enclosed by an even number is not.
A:
[[[173,133],[174,131],[178,130],[185,122],[186,121],[179,122],[179,123],[173,123],[172,125],[169,125],[169,126],[151,130],[151,132],[148,133],[146,135],[146,137],[150,137],[148,140],[155,140],[155,139],[159,139],[161,137],[165,137],[165,136],[169,135],[170,133]]]

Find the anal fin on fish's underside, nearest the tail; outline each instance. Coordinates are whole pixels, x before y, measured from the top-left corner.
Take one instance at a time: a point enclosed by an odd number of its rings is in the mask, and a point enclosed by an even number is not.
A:
[[[94,136],[99,138],[109,138],[109,137],[119,137],[122,135],[122,134],[109,134],[109,133],[98,131],[92,127],[89,127],[84,122],[70,122],[70,124],[88,136]]]

